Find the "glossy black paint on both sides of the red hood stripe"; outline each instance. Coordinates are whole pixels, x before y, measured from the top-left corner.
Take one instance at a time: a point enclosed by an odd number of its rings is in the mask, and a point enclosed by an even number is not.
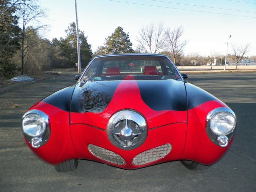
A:
[[[43,102],[54,105],[64,111],[77,113],[102,112],[112,100],[115,90],[121,81],[125,80],[80,81],[75,85],[57,91],[45,98]],[[208,92],[181,80],[134,81],[138,85],[143,102],[156,111],[185,111],[204,102],[217,100],[216,97]]]

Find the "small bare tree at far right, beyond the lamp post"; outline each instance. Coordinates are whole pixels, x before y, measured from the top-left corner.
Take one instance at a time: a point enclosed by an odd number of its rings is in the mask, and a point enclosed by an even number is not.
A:
[[[246,44],[245,46],[238,46],[236,44],[231,44],[233,55],[230,56],[230,58],[235,61],[236,63],[236,69],[237,69],[237,63],[240,62],[240,60],[244,57],[244,55],[249,51],[250,44]]]

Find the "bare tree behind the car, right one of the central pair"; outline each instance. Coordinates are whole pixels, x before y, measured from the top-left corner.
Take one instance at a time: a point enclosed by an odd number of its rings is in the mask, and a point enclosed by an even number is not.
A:
[[[181,41],[181,37],[184,33],[183,27],[178,26],[174,29],[168,28],[165,31],[166,35],[166,52],[169,53],[176,64],[176,61],[183,54],[183,49],[187,45],[188,41]]]

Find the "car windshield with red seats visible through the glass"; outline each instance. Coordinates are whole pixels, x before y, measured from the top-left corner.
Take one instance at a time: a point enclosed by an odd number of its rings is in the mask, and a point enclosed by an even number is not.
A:
[[[181,79],[176,68],[165,56],[118,55],[95,58],[81,80],[117,80],[131,75],[142,79]]]

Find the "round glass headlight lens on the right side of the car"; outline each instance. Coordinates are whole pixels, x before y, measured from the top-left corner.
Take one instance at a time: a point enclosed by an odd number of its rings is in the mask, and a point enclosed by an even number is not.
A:
[[[209,120],[210,129],[219,136],[228,135],[236,125],[236,118],[227,111],[221,111],[213,114]]]

